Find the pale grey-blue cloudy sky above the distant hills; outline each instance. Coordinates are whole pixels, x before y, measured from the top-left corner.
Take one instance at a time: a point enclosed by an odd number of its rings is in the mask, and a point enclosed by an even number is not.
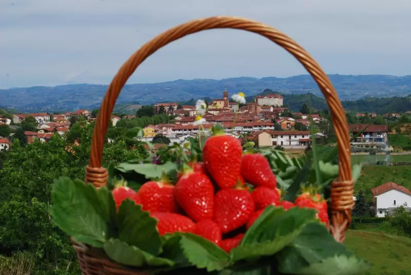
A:
[[[1,0],[0,88],[109,84],[156,35],[215,15],[281,30],[327,74],[411,75],[409,14],[409,0]],[[218,29],[166,45],[127,83],[301,74],[271,41]]]

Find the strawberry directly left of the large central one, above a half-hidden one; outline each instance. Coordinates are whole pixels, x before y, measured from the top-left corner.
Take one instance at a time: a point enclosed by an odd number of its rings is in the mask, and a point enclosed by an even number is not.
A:
[[[148,181],[138,191],[140,203],[144,211],[177,212],[174,199],[175,187],[166,181]]]

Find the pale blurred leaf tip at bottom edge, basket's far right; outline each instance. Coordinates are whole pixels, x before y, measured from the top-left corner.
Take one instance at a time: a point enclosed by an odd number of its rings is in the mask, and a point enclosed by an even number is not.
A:
[[[297,271],[296,275],[329,275],[332,270],[333,275],[362,275],[370,268],[365,261],[354,256],[346,255],[333,256],[326,260],[312,264]]]

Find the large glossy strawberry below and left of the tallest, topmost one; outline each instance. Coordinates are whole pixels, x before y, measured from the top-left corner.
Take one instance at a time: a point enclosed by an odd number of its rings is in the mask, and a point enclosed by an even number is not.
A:
[[[214,186],[210,179],[202,173],[194,173],[190,168],[178,180],[174,196],[194,221],[213,218]]]

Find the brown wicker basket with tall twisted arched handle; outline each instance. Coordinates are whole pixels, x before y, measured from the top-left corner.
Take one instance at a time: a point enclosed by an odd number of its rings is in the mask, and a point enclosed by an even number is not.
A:
[[[108,173],[101,167],[104,139],[107,132],[110,115],[117,97],[127,79],[133,74],[136,68],[151,54],[161,47],[182,38],[185,35],[202,30],[231,28],[241,29],[258,33],[265,36],[272,42],[282,46],[291,53],[311,74],[312,78],[319,85],[331,111],[331,118],[334,125],[335,136],[339,144],[339,177],[331,186],[331,217],[330,232],[334,239],[343,242],[345,230],[351,222],[351,209],[353,207],[353,181],[351,174],[350,144],[347,121],[330,80],[320,66],[312,57],[296,42],[284,33],[267,26],[265,24],[230,16],[208,17],[206,19],[194,20],[166,32],[161,33],[136,51],[120,68],[114,77],[101,104],[100,112],[95,122],[94,135],[91,142],[90,161],[86,167],[86,182],[94,184],[96,187],[106,184]],[[123,267],[110,261],[104,254],[72,240],[73,247],[77,252],[82,274],[84,275],[142,275],[143,271]]]

